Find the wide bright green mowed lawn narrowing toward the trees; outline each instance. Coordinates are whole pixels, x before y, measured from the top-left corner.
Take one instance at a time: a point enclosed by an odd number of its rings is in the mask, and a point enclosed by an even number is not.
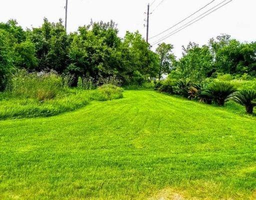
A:
[[[256,118],[125,91],[0,121],[0,199],[256,199]]]

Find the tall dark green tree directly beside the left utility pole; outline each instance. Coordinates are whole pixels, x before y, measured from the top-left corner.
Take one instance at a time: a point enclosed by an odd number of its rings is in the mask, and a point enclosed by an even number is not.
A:
[[[44,18],[41,27],[28,30],[27,34],[35,45],[38,59],[38,66],[34,70],[54,69],[63,72],[67,66],[69,39],[62,20],[50,23]]]

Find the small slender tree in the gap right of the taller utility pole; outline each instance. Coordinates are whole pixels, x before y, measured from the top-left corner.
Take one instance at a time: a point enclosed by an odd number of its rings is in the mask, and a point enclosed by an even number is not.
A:
[[[160,80],[163,73],[169,73],[172,67],[172,60],[175,56],[171,52],[173,45],[165,44],[164,42],[159,44],[156,48],[156,53],[159,56],[159,69],[158,79]]]

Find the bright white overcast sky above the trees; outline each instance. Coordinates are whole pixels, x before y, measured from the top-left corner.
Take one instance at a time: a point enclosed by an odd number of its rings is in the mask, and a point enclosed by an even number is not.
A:
[[[118,24],[120,36],[123,36],[126,30],[139,30],[145,36],[144,11],[147,3],[151,1],[69,0],[68,31],[75,31],[79,25],[88,24],[91,18],[93,21],[113,19]],[[160,1],[156,0],[151,10]],[[163,0],[150,15],[149,36],[172,26],[209,1],[211,0]],[[221,1],[215,0],[207,8]],[[31,25],[36,27],[42,23],[44,16],[54,22],[58,18],[64,18],[64,5],[65,0],[0,0],[0,21],[14,18],[24,28]],[[189,41],[204,44],[210,37],[220,33],[230,34],[241,41],[255,41],[255,8],[256,0],[233,0],[164,41],[174,45],[174,53],[177,56],[181,54],[181,45],[186,45]]]

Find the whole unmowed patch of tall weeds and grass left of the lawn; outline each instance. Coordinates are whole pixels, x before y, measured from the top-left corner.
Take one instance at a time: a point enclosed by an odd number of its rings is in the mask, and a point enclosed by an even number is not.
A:
[[[70,76],[71,77],[71,76]],[[122,97],[122,88],[102,85],[92,90],[69,88],[70,77],[49,73],[28,73],[24,70],[14,74],[5,92],[0,93],[0,119],[52,116],[72,111],[92,100],[104,101]]]

